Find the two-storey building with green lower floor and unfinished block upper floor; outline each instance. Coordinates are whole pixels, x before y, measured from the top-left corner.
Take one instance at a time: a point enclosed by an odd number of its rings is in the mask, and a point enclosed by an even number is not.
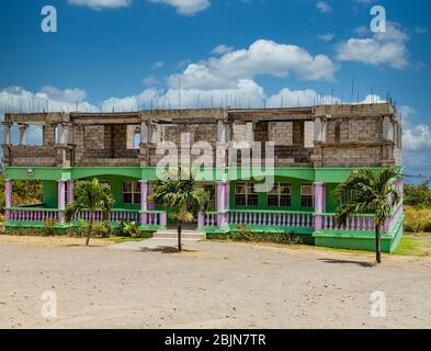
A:
[[[26,145],[30,125],[41,129],[37,146]],[[19,128],[18,145],[11,128]],[[111,220],[134,220],[143,231],[168,225],[167,210],[147,202],[156,169],[163,157],[162,141],[180,144],[190,133],[191,144],[214,147],[211,179],[203,185],[212,194],[213,212],[199,215],[196,226],[208,236],[247,225],[252,230],[296,233],[318,246],[374,249],[374,220],[370,214],[352,217],[338,228],[332,191],[358,167],[376,170],[401,165],[401,124],[393,105],[320,105],[272,110],[152,110],[129,113],[15,113],[5,114],[4,174],[5,227],[42,227],[53,218],[67,228],[65,205],[73,200],[77,180],[99,178],[111,184],[115,210]],[[271,157],[275,185],[257,192],[254,180],[218,167],[217,145],[273,141]],[[238,147],[238,149],[245,146]],[[213,157],[212,157],[213,156]],[[193,156],[194,159],[199,155]],[[193,158],[192,157],[192,158]],[[223,151],[222,159],[228,158]],[[213,161],[214,159],[214,161]],[[235,159],[242,169],[242,154]],[[266,168],[265,168],[266,169]],[[12,204],[13,180],[39,180],[43,204]],[[402,184],[397,184],[401,190]],[[79,214],[88,218],[88,213]],[[100,218],[100,216],[99,216]],[[402,204],[394,208],[383,229],[383,250],[390,252],[402,236]]]

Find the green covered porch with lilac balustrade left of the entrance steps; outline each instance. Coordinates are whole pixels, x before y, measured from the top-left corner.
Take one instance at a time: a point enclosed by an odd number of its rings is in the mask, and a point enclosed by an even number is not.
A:
[[[147,199],[151,192],[149,181],[134,181],[125,179],[118,182],[114,177],[101,177],[101,180],[110,182],[116,206],[111,211],[109,222],[117,226],[121,222],[135,222],[143,231],[156,231],[167,227],[168,216],[166,211],[157,211]],[[5,180],[5,212],[4,225],[7,227],[44,227],[49,220],[55,227],[65,228],[79,225],[79,220],[89,220],[90,212],[81,211],[71,220],[66,223],[66,205],[73,201],[73,188],[76,180],[43,181],[43,202],[34,205],[14,206],[12,203],[13,181]],[[112,183],[113,182],[113,183]],[[127,188],[124,189],[117,186]],[[117,206],[120,205],[120,206]],[[95,222],[103,220],[101,211],[94,214]]]

